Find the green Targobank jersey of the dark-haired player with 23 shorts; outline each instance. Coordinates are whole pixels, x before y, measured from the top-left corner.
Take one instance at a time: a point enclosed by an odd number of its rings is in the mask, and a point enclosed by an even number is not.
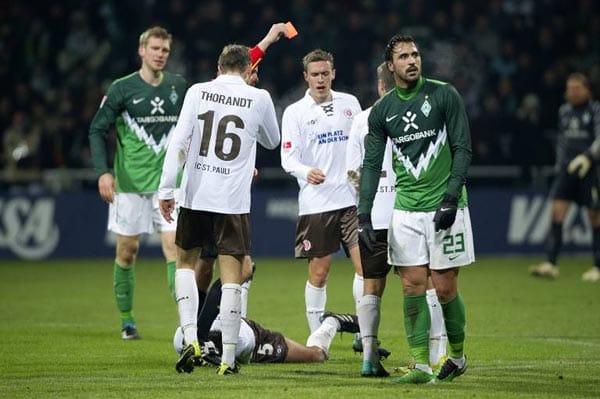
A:
[[[394,149],[395,209],[432,211],[446,193],[458,197],[460,207],[466,205],[471,139],[464,105],[454,87],[421,78],[416,87],[396,88],[375,103],[363,171],[371,169],[375,176],[380,170],[379,153],[383,154],[388,137]],[[360,213],[366,212],[363,206],[371,206],[362,188],[361,183],[361,202],[366,203],[360,204]]]

